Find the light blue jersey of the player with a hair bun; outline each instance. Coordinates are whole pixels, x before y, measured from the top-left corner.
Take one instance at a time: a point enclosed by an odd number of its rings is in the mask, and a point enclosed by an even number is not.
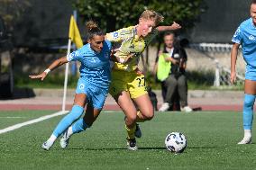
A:
[[[88,85],[108,89],[110,84],[110,63],[109,55],[111,43],[105,40],[101,52],[96,53],[90,48],[90,44],[84,45],[81,49],[73,51],[67,56],[68,61],[79,61],[80,77]]]

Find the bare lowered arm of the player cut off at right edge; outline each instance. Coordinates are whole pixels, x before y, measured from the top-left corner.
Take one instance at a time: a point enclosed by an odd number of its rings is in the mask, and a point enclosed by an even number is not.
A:
[[[230,82],[234,83],[236,80],[236,71],[235,71],[235,65],[236,65],[236,59],[237,59],[237,53],[239,49],[240,44],[234,43],[233,48],[231,50],[231,74],[230,74]]]

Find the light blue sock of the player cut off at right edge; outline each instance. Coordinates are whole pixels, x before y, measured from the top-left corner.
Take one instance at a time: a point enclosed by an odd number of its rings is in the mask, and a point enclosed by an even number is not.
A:
[[[253,104],[255,101],[255,95],[244,94],[243,101],[243,129],[251,130],[252,120],[253,120]]]

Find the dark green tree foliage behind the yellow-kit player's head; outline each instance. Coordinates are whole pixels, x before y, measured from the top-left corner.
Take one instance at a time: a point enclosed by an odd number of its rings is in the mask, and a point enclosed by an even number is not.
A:
[[[138,22],[145,9],[161,13],[165,20],[162,24],[173,21],[182,25],[182,31],[194,26],[199,15],[206,10],[204,0],[71,0],[78,14],[84,21],[93,19],[106,32],[115,31]],[[160,40],[158,39],[159,48]],[[148,60],[146,55],[145,61]],[[146,63],[147,65],[148,63]]]

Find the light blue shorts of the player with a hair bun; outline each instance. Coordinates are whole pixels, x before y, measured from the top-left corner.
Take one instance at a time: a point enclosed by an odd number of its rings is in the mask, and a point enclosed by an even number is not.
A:
[[[84,78],[78,79],[78,86],[76,94],[87,94],[87,104],[92,105],[94,108],[101,110],[105,103],[105,98],[108,94],[108,89],[90,85]]]

